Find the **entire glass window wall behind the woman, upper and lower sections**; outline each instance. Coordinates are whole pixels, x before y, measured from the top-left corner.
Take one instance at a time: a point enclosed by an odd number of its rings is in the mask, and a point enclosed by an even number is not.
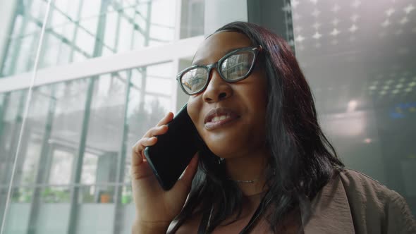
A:
[[[204,33],[203,24],[183,26],[203,22],[200,0],[55,0],[46,22],[49,1],[11,2],[10,31],[0,35],[0,85],[30,80],[43,25],[36,80],[101,56],[162,46],[169,53],[180,39]],[[178,62],[161,51],[144,66],[82,75],[85,66],[79,77],[0,93],[4,233],[131,232],[130,149],[176,110]]]

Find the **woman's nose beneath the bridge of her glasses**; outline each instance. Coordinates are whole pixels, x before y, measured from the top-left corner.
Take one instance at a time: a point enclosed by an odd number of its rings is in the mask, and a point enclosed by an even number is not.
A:
[[[211,79],[202,94],[204,101],[211,103],[231,97],[233,94],[231,85],[221,78],[216,69],[212,69],[210,76]]]

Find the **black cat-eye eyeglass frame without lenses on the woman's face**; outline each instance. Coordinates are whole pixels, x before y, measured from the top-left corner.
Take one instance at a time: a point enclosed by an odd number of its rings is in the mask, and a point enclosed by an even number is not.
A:
[[[257,47],[243,47],[243,48],[239,48],[239,49],[235,49],[233,51],[228,52],[226,55],[224,55],[222,58],[219,59],[219,61],[216,61],[216,63],[212,63],[212,64],[208,64],[208,65],[194,65],[194,66],[190,66],[189,68],[185,68],[185,70],[182,70],[180,73],[178,73],[178,75],[176,75],[176,80],[178,80],[179,82],[179,86],[181,86],[181,89],[183,90],[183,92],[185,92],[185,94],[188,95],[196,95],[199,94],[201,92],[204,92],[204,90],[207,88],[208,84],[209,84],[209,76],[211,75],[211,70],[212,68],[216,68],[216,70],[218,71],[221,79],[225,80],[226,82],[238,82],[240,80],[244,80],[245,78],[247,78],[251,73],[253,68],[255,67],[255,63],[257,61],[257,54],[259,54],[259,51],[262,51],[263,47],[262,46],[257,46]],[[238,52],[251,52],[254,55],[252,64],[250,66],[250,69],[248,70],[247,74],[242,76],[241,78],[238,78],[236,80],[228,80],[224,77],[224,75],[221,73],[221,69],[218,69],[219,66],[221,65],[222,62],[224,62],[224,60],[226,60],[228,57],[232,56],[233,54],[236,54]],[[204,68],[205,70],[207,70],[207,82],[205,83],[204,87],[202,87],[201,90],[198,90],[197,92],[187,92],[185,90],[185,88],[182,85],[182,77],[183,74],[187,73],[189,70],[195,69],[195,68]]]

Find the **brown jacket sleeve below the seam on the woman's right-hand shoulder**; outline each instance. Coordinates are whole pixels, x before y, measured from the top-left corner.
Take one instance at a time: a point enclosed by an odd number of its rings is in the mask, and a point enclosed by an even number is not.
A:
[[[382,185],[377,180],[358,171],[343,169],[339,178],[350,205],[354,223],[367,226],[367,231],[376,223],[387,233],[416,232],[416,222],[408,204],[398,192]],[[384,227],[383,227],[384,226]],[[371,228],[370,228],[371,227]],[[369,228],[369,229],[368,229]]]

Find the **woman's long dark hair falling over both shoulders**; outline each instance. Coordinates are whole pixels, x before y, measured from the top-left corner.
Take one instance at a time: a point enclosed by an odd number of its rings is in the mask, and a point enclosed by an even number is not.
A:
[[[233,22],[216,32],[240,32],[255,46],[262,46],[262,66],[267,76],[268,191],[267,221],[272,232],[281,230],[289,212],[299,209],[302,223],[310,216],[310,202],[317,192],[343,168],[334,147],[322,133],[310,87],[298,61],[285,40],[253,23]],[[214,32],[214,33],[216,33]],[[266,126],[265,126],[266,127]],[[200,152],[197,174],[192,180],[188,200],[171,233],[191,216],[207,214],[214,206],[212,231],[231,214],[241,214],[243,194],[238,185],[226,179],[224,164],[208,150]],[[300,223],[301,225],[301,223]]]

